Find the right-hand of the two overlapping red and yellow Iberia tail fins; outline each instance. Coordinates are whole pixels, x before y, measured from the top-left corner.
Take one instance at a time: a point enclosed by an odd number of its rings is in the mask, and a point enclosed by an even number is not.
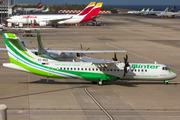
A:
[[[97,5],[87,14],[84,16],[84,18],[80,22],[85,22],[89,20],[93,20],[96,18],[99,14],[99,11],[102,7],[103,3],[97,3]]]

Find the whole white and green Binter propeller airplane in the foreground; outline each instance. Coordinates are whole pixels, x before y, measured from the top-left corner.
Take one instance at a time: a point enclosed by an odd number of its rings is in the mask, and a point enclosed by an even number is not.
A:
[[[83,79],[102,85],[116,80],[153,80],[168,83],[177,77],[175,72],[163,64],[128,63],[127,55],[124,62],[98,59],[92,62],[60,62],[42,58],[26,49],[15,34],[3,33],[3,37],[10,59],[10,63],[3,63],[4,67],[47,78]]]

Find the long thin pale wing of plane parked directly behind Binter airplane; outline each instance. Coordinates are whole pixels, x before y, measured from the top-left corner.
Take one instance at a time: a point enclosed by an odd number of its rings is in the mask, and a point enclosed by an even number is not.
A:
[[[82,51],[82,50],[47,50],[48,52],[56,52],[56,53],[58,53],[59,55],[61,54],[61,53],[114,53],[114,52],[116,52],[116,53],[118,53],[118,52],[127,52],[127,51],[125,51],[125,50],[113,50],[113,51],[90,51],[90,50],[88,50],[88,51]]]

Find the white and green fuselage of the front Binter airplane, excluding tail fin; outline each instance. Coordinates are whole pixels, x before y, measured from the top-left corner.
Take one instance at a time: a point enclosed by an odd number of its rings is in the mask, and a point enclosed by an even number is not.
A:
[[[26,63],[24,63],[26,64]],[[116,80],[153,80],[164,81],[171,80],[177,77],[177,74],[169,70],[166,65],[163,64],[141,64],[130,63],[128,67],[128,73],[123,78],[124,70],[122,69],[122,63],[112,65],[109,67],[98,67],[88,62],[39,62],[43,67],[37,67],[28,64],[28,67],[33,67],[41,72],[29,71],[28,69],[19,70],[46,76],[49,78],[74,78],[85,79],[89,81],[98,81],[104,78],[106,81]],[[16,64],[17,65],[17,64]],[[3,64],[4,67],[12,67],[13,65]],[[46,68],[44,68],[46,67]],[[17,69],[17,68],[15,68]]]

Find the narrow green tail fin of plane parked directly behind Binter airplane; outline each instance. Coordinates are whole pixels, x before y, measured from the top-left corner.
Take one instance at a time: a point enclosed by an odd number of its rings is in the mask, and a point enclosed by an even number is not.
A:
[[[42,55],[46,53],[46,50],[43,47],[42,41],[41,41],[41,35],[39,30],[37,30],[37,42],[38,42],[38,55]]]

